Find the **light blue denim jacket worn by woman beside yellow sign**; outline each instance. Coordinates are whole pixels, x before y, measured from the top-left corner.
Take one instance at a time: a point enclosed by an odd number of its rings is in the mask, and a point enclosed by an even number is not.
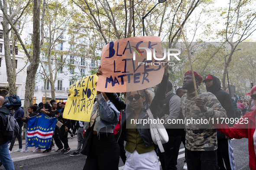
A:
[[[94,103],[91,117],[95,114],[98,108],[94,126],[96,126],[97,134],[99,135],[101,128],[111,126],[113,130],[115,129],[115,126],[118,123],[120,111],[118,111],[109,100],[106,101],[102,94],[97,96],[100,100]],[[89,122],[84,122],[84,129],[88,129],[88,126]]]

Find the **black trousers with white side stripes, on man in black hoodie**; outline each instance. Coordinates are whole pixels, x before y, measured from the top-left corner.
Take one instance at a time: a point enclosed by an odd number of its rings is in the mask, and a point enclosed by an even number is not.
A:
[[[228,149],[229,149],[229,146],[228,146],[227,139],[218,140],[217,160],[218,160],[218,166],[220,167],[220,170],[233,170],[234,169],[233,167],[235,167],[235,164],[233,164],[234,163],[233,160],[231,160],[231,164],[230,164],[230,157],[232,156],[229,155]],[[226,165],[226,168],[224,167],[224,163]]]

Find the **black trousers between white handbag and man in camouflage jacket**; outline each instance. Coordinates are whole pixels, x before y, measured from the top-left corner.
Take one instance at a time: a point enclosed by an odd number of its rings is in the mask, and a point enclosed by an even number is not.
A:
[[[178,151],[181,145],[181,135],[169,136],[169,141],[163,144],[165,152],[158,149],[159,159],[163,170],[177,170]]]

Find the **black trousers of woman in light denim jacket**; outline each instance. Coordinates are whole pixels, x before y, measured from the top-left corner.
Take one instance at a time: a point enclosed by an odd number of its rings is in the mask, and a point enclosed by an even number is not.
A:
[[[93,135],[84,170],[118,170],[119,154],[113,133]]]

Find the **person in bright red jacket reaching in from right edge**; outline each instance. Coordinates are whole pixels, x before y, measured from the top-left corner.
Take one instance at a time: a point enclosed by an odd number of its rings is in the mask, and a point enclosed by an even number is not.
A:
[[[256,103],[256,85],[251,89],[251,94],[253,102]],[[251,170],[256,170],[256,109],[246,113],[242,118],[233,127],[229,127],[227,124],[214,123],[213,125],[227,137],[235,139],[248,138],[249,167]]]

